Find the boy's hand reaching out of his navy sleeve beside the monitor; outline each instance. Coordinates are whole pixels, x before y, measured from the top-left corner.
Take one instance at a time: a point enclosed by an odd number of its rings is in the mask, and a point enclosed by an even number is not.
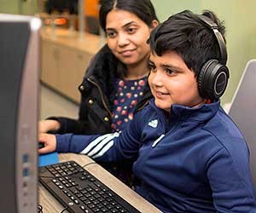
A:
[[[44,143],[44,147],[38,149],[39,154],[52,153],[56,149],[56,136],[52,134],[41,133],[38,137],[39,142]]]

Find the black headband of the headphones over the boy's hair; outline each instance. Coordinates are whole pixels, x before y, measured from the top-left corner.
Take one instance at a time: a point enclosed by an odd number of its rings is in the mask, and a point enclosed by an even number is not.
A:
[[[226,50],[226,44],[224,42],[224,37],[222,34],[218,31],[218,25],[214,23],[210,18],[208,18],[206,15],[200,14],[199,18],[208,26],[212,32],[214,32],[214,35],[218,41],[218,47],[220,52],[220,60],[219,62],[222,65],[226,65],[227,63],[227,50]]]

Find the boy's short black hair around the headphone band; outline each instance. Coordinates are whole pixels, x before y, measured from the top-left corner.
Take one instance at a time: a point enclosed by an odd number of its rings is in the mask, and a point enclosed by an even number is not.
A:
[[[218,31],[224,37],[223,22],[220,22],[212,11],[205,10],[203,15],[218,25]],[[151,51],[159,56],[166,51],[175,51],[183,58],[188,68],[195,72],[196,77],[207,60],[221,59],[214,33],[197,14],[189,10],[170,16],[154,28],[149,43]]]

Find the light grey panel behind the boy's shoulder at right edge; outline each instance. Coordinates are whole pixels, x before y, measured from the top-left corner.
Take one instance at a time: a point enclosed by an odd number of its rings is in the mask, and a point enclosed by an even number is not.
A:
[[[249,60],[231,102],[230,117],[244,135],[250,150],[250,166],[256,195],[256,59]]]

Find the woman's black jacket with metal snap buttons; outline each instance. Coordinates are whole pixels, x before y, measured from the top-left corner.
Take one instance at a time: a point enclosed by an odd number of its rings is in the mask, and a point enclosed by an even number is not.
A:
[[[51,117],[58,120],[60,130],[54,133],[106,134],[111,132],[114,82],[119,78],[117,73],[119,61],[112,54],[108,45],[94,56],[85,72],[83,82],[79,85],[81,101],[79,119]],[[148,84],[143,97],[137,103],[137,110],[148,103],[152,97]]]

